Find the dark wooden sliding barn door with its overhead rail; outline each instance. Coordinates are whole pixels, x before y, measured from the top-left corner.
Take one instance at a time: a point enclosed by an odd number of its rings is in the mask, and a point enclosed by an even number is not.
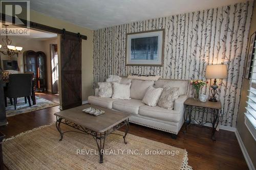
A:
[[[2,14],[2,21],[10,18]],[[15,20],[15,17],[12,17]],[[27,20],[20,19],[23,23]],[[30,21],[30,28],[33,30],[47,31],[60,35],[58,52],[59,72],[59,98],[60,109],[68,109],[81,105],[81,40],[87,40],[87,36],[80,33],[73,33],[65,29],[57,29]],[[21,26],[23,27],[23,26]],[[56,69],[56,68],[55,68]],[[76,99],[76,100],[74,100]]]

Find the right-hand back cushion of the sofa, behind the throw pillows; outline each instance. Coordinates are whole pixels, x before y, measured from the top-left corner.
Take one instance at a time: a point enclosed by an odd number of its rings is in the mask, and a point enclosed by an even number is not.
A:
[[[158,80],[155,81],[155,88],[163,88],[164,86],[179,87],[180,95],[187,94],[188,81],[182,80]]]

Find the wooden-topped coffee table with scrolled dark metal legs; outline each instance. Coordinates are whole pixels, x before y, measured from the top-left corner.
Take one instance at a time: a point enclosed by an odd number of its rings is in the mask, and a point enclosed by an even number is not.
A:
[[[105,113],[94,116],[88,113],[84,113],[82,110],[93,107],[100,110],[104,110]],[[103,150],[105,144],[106,136],[113,133],[115,130],[126,126],[125,134],[123,135],[124,143],[125,137],[129,131],[129,114],[121,113],[118,111],[113,111],[110,109],[106,109],[103,107],[95,106],[95,105],[82,105],[75,108],[62,110],[60,112],[54,113],[56,115],[56,128],[60,134],[61,141],[63,139],[63,134],[67,132],[79,132],[83,134],[92,135],[97,143],[97,147],[99,150],[99,163],[103,163]],[[79,131],[66,131],[61,132],[60,125],[65,124]]]

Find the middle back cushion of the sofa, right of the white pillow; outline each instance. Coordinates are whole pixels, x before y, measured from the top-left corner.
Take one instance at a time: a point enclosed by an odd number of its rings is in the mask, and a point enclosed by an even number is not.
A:
[[[131,98],[142,100],[147,88],[153,85],[154,81],[133,79],[131,85]]]

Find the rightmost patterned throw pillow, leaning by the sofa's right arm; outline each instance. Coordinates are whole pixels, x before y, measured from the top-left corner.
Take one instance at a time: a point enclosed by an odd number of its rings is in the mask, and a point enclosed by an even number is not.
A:
[[[173,110],[174,109],[174,101],[178,99],[180,96],[180,88],[179,87],[170,87],[166,86],[163,89],[162,95],[158,101],[158,106]]]

